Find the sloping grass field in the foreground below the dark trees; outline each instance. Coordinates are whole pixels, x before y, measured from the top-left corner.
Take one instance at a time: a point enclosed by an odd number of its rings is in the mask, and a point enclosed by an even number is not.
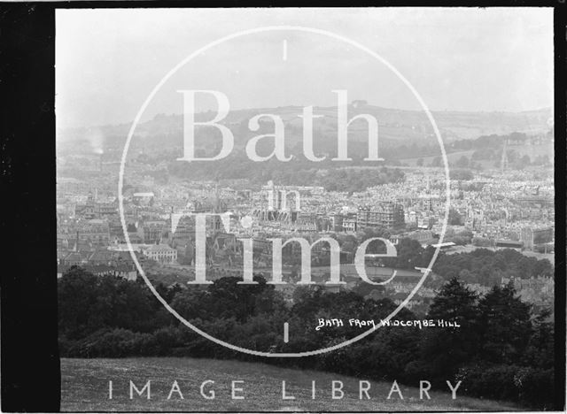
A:
[[[113,381],[113,399],[109,399],[108,382]],[[142,389],[151,380],[151,400],[134,394],[129,399],[129,381]],[[167,400],[177,380],[184,399],[177,393]],[[215,398],[205,399],[199,387],[206,380],[205,392],[214,389]],[[237,395],[231,399],[231,381],[243,380]],[[286,394],[295,400],[282,399],[282,381]],[[311,381],[315,380],[315,400]],[[343,399],[331,398],[331,381],[344,383]],[[425,380],[425,379],[424,379]],[[64,411],[408,411],[408,410],[518,410],[512,404],[478,400],[459,395],[430,392],[431,400],[420,400],[419,385],[400,386],[403,400],[397,393],[386,399],[391,382],[371,382],[370,399],[359,399],[359,379],[326,372],[299,371],[268,364],[218,361],[192,358],[126,358],[126,359],[62,359],[61,410]]]

